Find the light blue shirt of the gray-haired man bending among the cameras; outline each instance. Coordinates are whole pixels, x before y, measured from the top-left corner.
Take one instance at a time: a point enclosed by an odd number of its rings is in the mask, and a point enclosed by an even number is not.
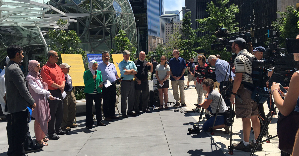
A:
[[[226,73],[227,69],[230,69],[228,68],[230,65],[228,64],[227,61],[225,60],[221,60],[221,59],[217,59],[216,60],[216,63],[215,63],[215,74],[216,74],[216,80],[218,83],[222,82],[222,81],[228,81],[228,77],[229,77],[229,71]],[[227,74],[226,76],[226,79],[224,80],[225,78],[225,74]],[[236,75],[231,72],[231,80],[234,80],[234,77]]]

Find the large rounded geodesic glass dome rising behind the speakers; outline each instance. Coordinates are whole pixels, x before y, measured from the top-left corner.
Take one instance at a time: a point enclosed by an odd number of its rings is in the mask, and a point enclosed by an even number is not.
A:
[[[137,47],[135,18],[128,0],[51,0],[50,5],[65,13],[89,13],[90,16],[74,18],[69,30],[75,30],[82,40],[86,53],[101,53],[114,48],[114,38],[124,30],[131,43]],[[57,14],[51,10],[47,14]]]

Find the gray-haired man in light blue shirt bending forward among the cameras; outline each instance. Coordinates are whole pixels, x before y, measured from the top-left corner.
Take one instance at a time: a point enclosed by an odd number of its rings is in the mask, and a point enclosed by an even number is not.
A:
[[[220,92],[222,92],[223,85],[230,84],[230,82],[227,83],[227,81],[229,80],[229,75],[230,75],[229,71],[227,71],[227,69],[230,70],[230,66],[227,61],[217,58],[217,56],[215,56],[215,55],[210,55],[208,57],[208,62],[212,66],[215,66],[215,68],[216,68],[216,70],[215,70],[216,80],[220,84],[219,90],[220,90]],[[225,75],[226,75],[226,78],[225,78]],[[235,77],[235,74],[233,72],[231,72],[231,81],[234,80],[234,77]],[[230,95],[229,92],[226,92],[225,96],[223,96],[223,98],[225,98],[229,95]],[[224,102],[225,102],[226,106],[231,106],[230,99],[227,99]]]

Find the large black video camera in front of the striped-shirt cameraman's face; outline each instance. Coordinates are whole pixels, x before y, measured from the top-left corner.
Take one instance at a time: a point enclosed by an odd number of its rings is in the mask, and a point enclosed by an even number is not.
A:
[[[238,37],[244,38],[247,43],[252,41],[250,33],[245,33],[242,31],[229,33],[229,31],[224,28],[216,28],[215,36],[217,38],[213,41],[213,44],[211,44],[212,50],[223,50],[226,48],[227,51],[231,51],[232,43],[229,41]]]

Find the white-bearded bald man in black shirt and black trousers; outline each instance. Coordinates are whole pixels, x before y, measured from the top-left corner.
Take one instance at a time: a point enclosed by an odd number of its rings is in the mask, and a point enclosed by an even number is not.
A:
[[[145,52],[139,52],[139,59],[135,60],[134,63],[137,67],[137,74],[134,75],[135,78],[135,101],[134,101],[134,111],[136,114],[141,114],[139,112],[139,97],[142,91],[142,112],[149,113],[147,110],[147,105],[149,102],[149,81],[148,71],[153,71],[152,63],[147,62],[145,59]]]

